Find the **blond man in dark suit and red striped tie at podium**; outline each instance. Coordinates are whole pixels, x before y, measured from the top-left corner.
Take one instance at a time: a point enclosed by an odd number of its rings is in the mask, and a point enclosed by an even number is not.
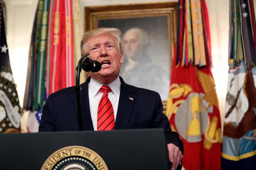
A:
[[[126,84],[119,72],[123,64],[120,30],[98,28],[86,32],[81,53],[102,64],[99,72],[81,85],[81,112],[84,130],[164,128],[171,169],[182,160],[183,144],[172,132],[162,113],[160,95],[154,91]],[[79,130],[75,87],[51,94],[42,110],[39,132]]]

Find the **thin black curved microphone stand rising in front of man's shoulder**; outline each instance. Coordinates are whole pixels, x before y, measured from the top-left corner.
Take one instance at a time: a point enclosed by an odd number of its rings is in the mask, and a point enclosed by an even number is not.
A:
[[[84,55],[83,57],[81,57],[81,59],[79,60],[79,62],[77,64],[77,73],[76,73],[76,81],[75,81],[75,89],[76,89],[76,94],[77,94],[77,119],[78,119],[78,126],[79,126],[80,131],[83,130],[83,117],[82,117],[82,113],[81,113],[81,98],[80,98],[80,91],[81,91],[80,73],[81,73],[82,63],[84,62],[84,60],[87,60],[90,57],[90,54],[89,53],[87,53],[87,54],[88,55]]]

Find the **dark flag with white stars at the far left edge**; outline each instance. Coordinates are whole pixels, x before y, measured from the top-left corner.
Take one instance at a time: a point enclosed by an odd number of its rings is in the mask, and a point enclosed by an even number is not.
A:
[[[21,108],[6,43],[2,0],[0,6],[0,132],[20,132]]]

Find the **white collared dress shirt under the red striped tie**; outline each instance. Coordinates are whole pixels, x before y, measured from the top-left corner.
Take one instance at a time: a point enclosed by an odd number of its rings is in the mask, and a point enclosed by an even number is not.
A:
[[[90,83],[88,84],[90,116],[92,118],[92,125],[94,130],[97,130],[98,106],[100,99],[103,95],[103,92],[99,90],[102,85],[102,83],[96,81],[93,78],[90,79]],[[108,84],[108,87],[110,87],[110,89],[112,90],[108,93],[108,98],[112,103],[114,109],[114,117],[116,118],[121,88],[121,81],[119,77],[117,77],[117,79],[115,79],[115,81],[113,81],[112,83]]]

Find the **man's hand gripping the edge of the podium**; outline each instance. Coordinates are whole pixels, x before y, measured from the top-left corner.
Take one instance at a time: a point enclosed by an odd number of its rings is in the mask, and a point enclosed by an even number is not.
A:
[[[169,160],[171,162],[171,170],[176,170],[177,166],[180,164],[183,155],[179,150],[179,147],[175,146],[174,144],[167,144],[168,153],[169,153]]]

